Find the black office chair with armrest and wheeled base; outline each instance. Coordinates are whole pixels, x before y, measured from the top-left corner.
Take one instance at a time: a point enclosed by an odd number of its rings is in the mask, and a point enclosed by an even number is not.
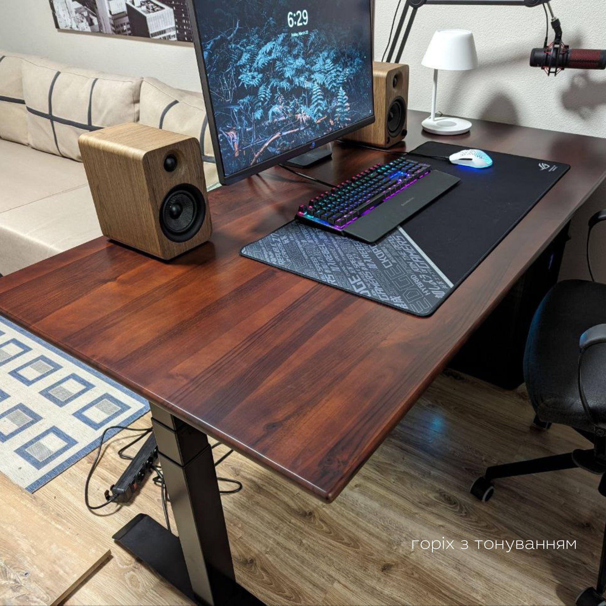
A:
[[[606,210],[589,222],[587,262],[591,270],[591,230],[606,221]],[[471,486],[481,501],[493,496],[493,480],[530,473],[580,467],[602,476],[599,493],[606,496],[606,284],[570,280],[556,284],[539,305],[528,334],[524,378],[536,417],[534,426],[568,425],[593,444],[531,461],[488,467]],[[606,591],[606,528],[598,584],[579,594],[576,606],[604,606]]]

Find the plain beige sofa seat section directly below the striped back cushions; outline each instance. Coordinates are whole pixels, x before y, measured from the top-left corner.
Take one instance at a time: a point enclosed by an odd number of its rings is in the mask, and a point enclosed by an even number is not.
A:
[[[0,213],[86,183],[80,162],[0,140]]]

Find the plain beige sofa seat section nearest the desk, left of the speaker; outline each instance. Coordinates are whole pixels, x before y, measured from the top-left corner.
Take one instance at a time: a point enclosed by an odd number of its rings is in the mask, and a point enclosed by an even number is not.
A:
[[[98,236],[101,227],[88,185],[7,210],[0,213],[0,273],[7,275]]]

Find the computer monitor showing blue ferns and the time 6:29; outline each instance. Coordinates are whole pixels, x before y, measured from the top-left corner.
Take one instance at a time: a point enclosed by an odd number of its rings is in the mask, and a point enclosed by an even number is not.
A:
[[[222,184],[375,121],[371,0],[190,0]]]

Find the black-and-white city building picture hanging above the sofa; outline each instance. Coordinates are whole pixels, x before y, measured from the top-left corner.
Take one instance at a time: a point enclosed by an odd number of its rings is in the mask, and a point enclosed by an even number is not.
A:
[[[49,0],[59,30],[191,42],[187,0]]]

